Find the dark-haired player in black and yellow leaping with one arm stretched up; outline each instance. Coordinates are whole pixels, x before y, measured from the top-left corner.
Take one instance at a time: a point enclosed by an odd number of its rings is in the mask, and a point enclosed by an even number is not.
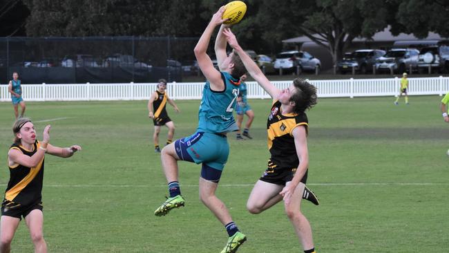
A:
[[[269,82],[260,68],[245,53],[230,29],[225,29],[229,46],[238,53],[251,77],[273,98],[267,122],[268,168],[256,182],[248,198],[247,209],[260,214],[284,200],[287,216],[305,253],[314,253],[312,228],[300,212],[300,203],[307,180],[309,151],[308,121],[305,111],[316,104],[316,88],[302,79],[282,91]]]

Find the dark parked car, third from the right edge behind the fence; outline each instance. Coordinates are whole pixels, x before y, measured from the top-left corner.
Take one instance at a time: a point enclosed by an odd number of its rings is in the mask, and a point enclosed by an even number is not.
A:
[[[376,64],[376,59],[385,55],[384,50],[379,49],[360,49],[355,50],[350,55],[345,55],[343,59],[337,63],[338,73],[351,73],[354,71],[361,74],[372,72],[372,66]]]

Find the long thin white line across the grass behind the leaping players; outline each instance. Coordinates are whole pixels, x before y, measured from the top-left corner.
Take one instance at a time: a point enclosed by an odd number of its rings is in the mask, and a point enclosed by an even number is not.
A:
[[[6,184],[0,184],[6,186]],[[307,185],[318,186],[426,186],[449,185],[449,182],[315,182]],[[181,185],[182,187],[198,187],[198,185]],[[220,187],[253,187],[254,184],[225,184]],[[166,185],[44,185],[44,187],[74,187],[74,188],[151,188],[166,187]]]

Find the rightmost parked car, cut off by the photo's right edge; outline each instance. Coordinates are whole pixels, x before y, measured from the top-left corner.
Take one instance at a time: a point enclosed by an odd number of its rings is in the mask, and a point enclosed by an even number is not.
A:
[[[426,72],[428,67],[449,73],[449,46],[428,46],[421,49],[418,56],[419,72]]]

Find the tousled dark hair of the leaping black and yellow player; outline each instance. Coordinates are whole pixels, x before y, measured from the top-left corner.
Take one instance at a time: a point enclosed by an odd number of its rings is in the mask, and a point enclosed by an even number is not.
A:
[[[290,97],[290,101],[294,102],[295,113],[303,113],[307,109],[311,109],[316,104],[316,88],[304,79],[296,78],[293,80],[296,91]]]

